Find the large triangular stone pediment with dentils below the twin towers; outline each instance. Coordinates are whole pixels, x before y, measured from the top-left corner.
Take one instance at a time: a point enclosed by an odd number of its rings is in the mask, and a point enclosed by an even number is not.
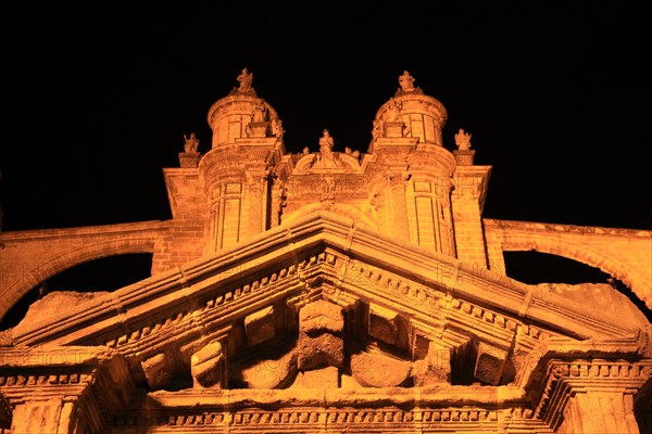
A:
[[[342,324],[318,314],[327,306],[341,315]],[[302,320],[302,312],[311,310],[317,314]],[[328,330],[333,321],[339,331]],[[190,379],[192,357],[203,362],[204,356],[214,360],[220,355],[240,369],[236,374],[231,369],[229,375],[241,380],[234,384],[287,387],[297,382],[291,372],[291,378],[268,382],[244,378],[261,360],[279,369],[301,366],[304,329],[306,336],[326,333],[346,341],[348,373],[355,363],[404,371],[405,378],[383,380],[391,386],[430,376],[459,384],[521,383],[531,366],[524,358],[550,339],[616,339],[637,332],[537,286],[322,210],[215,256],[100,294],[58,318],[20,324],[13,340],[105,345],[130,360],[152,388],[171,375]],[[432,358],[446,359],[443,372],[415,378],[414,362],[432,365]],[[342,360],[304,362],[311,369],[343,367]],[[351,382],[383,383],[365,374],[352,372]]]

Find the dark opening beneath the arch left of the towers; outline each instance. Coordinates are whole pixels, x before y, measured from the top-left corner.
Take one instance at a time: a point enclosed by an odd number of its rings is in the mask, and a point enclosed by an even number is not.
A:
[[[4,316],[0,331],[17,326],[29,306],[53,291],[112,292],[150,277],[151,253],[108,256],[71,267],[32,289]]]

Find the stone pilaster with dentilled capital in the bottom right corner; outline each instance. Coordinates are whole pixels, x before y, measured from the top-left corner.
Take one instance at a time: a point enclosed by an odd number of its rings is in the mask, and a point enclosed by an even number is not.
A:
[[[551,360],[537,416],[557,433],[639,433],[634,398],[652,360]]]

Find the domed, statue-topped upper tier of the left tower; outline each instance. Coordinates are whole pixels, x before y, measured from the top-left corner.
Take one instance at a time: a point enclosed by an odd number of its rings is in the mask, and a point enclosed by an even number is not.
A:
[[[233,144],[236,139],[253,137],[280,137],[281,120],[252,87],[253,74],[242,69],[239,87],[217,100],[209,110],[208,122],[213,130],[211,148]]]

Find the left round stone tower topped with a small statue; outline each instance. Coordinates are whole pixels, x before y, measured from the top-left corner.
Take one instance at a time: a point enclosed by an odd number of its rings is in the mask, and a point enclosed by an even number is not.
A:
[[[269,228],[271,169],[283,149],[281,120],[258,98],[247,69],[239,88],[209,110],[211,150],[199,163],[209,200],[204,252],[215,252]]]

